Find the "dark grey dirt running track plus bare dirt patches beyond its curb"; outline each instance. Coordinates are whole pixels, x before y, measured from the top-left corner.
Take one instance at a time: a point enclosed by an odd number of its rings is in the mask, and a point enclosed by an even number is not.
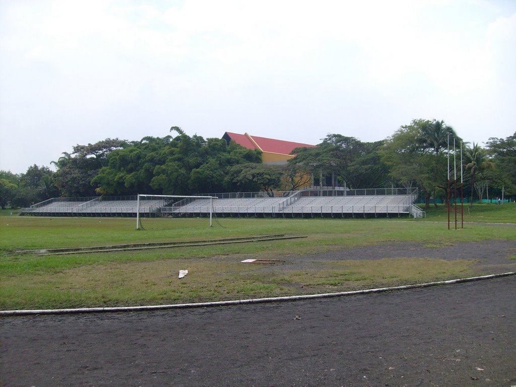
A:
[[[377,248],[346,254],[456,257],[450,247]],[[482,243],[469,258],[488,271],[509,268],[515,248]],[[4,317],[0,378],[6,386],[509,387],[515,321],[514,276],[276,304]]]

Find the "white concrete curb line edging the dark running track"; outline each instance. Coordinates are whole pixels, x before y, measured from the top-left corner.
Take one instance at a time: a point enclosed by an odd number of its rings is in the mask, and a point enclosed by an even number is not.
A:
[[[288,297],[269,297],[269,298],[254,298],[248,300],[233,300],[233,301],[216,301],[216,302],[199,302],[199,303],[186,303],[186,304],[172,304],[172,305],[148,305],[141,307],[114,307],[114,308],[75,308],[75,309],[42,309],[42,310],[11,310],[11,311],[0,311],[0,316],[27,316],[27,315],[40,315],[40,314],[72,314],[72,313],[104,313],[104,312],[141,312],[141,311],[158,311],[165,309],[185,309],[185,308],[206,308],[206,307],[222,307],[229,305],[243,305],[243,304],[257,304],[266,302],[283,302],[283,301],[298,301],[314,298],[330,298],[330,297],[343,297],[343,296],[355,296],[369,293],[384,293],[393,292],[405,289],[416,289],[422,287],[438,286],[438,285],[451,285],[462,282],[473,282],[481,280],[489,280],[493,278],[509,277],[516,275],[516,271],[510,271],[501,274],[492,274],[489,276],[461,278],[456,280],[438,281],[438,282],[427,282],[422,284],[393,286],[393,287],[380,287],[376,289],[366,289],[361,291],[352,292],[340,292],[340,293],[324,293],[324,294],[311,294],[304,296],[288,296]]]

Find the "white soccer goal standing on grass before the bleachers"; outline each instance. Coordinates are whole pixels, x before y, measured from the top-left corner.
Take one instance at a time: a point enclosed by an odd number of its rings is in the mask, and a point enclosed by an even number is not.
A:
[[[182,199],[182,200],[179,200]],[[187,195],[145,195],[138,194],[136,204],[136,230],[141,228],[140,214],[150,214],[151,211],[156,211],[158,208],[171,209],[170,213],[174,213],[174,209],[178,208],[172,206],[182,202],[182,205],[189,205],[197,199],[204,199],[207,203],[204,206],[204,213],[209,212],[209,227],[212,227],[212,213],[213,213],[213,199],[216,196],[187,196]]]

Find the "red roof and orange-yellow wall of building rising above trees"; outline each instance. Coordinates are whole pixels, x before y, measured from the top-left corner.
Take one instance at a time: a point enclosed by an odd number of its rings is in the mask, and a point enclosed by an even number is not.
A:
[[[235,141],[247,149],[262,151],[262,161],[267,164],[286,164],[288,159],[294,157],[292,151],[296,148],[313,148],[315,145],[302,142],[276,140],[273,138],[251,136],[248,133],[237,134],[225,132],[222,138],[228,143]]]

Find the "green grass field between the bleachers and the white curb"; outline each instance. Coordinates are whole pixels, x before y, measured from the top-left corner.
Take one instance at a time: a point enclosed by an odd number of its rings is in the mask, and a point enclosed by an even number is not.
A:
[[[459,209],[460,214],[460,209]],[[516,240],[516,205],[464,207],[464,229],[447,229],[446,208],[424,220],[38,218],[0,213],[0,309],[46,309],[163,304],[338,292],[464,277],[472,262],[414,257],[366,261],[317,261],[296,266],[296,257],[385,242],[428,247],[459,241]],[[473,222],[473,223],[470,223]],[[460,218],[459,218],[460,228]],[[217,239],[265,234],[307,238],[239,245],[134,252],[37,256],[16,250]],[[248,258],[288,257],[290,266],[242,264]],[[189,274],[179,280],[180,269]]]

